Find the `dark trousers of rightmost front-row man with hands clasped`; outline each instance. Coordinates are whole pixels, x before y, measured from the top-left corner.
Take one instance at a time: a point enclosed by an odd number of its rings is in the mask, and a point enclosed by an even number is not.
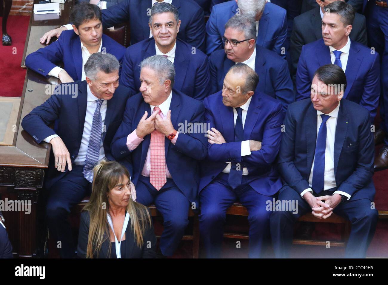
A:
[[[323,195],[332,195],[332,192],[322,192]],[[318,195],[315,195],[318,196]],[[298,192],[286,186],[279,194],[280,201],[298,201],[298,212],[274,211],[270,218],[270,228],[272,244],[277,258],[288,258],[292,245],[294,224],[296,220],[311,212],[311,207],[303,200]],[[283,203],[282,203],[283,204]],[[282,209],[285,210],[285,209]],[[371,209],[371,200],[344,200],[334,210],[338,214],[350,221],[352,230],[345,249],[346,258],[365,258],[366,251],[372,241],[376,230],[378,211]]]

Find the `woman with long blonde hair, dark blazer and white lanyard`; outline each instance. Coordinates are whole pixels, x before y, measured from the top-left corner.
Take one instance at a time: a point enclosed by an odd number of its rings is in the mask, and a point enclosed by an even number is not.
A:
[[[92,195],[81,213],[78,257],[153,258],[156,237],[147,207],[131,199],[135,187],[116,161],[94,168]]]

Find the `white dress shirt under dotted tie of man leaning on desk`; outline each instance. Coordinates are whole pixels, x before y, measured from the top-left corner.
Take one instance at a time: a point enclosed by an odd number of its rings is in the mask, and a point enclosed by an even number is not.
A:
[[[92,131],[93,115],[94,115],[94,111],[97,107],[97,100],[98,100],[98,98],[95,97],[92,94],[92,92],[90,91],[89,85],[87,86],[87,92],[88,92],[88,98],[87,98],[87,105],[86,105],[85,124],[83,125],[82,140],[81,140],[80,150],[78,151],[78,155],[74,159],[74,162],[73,162],[74,164],[77,164],[77,165],[85,164],[86,153],[88,151],[88,145],[89,145],[90,133]],[[105,116],[106,116],[106,107],[107,107],[107,100],[102,99],[100,113],[101,113],[102,128],[103,129],[104,129]],[[48,136],[47,138],[44,139],[44,141],[50,142],[50,140],[52,138],[55,138],[57,136],[58,135]],[[102,145],[102,140],[101,140],[99,162],[102,161],[102,159],[104,159],[104,158],[105,158],[105,152],[104,152],[104,147]]]

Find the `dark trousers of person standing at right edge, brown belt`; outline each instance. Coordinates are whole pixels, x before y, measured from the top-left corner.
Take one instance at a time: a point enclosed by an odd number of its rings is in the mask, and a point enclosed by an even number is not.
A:
[[[380,117],[381,128],[386,132],[384,143],[388,146],[388,8],[379,7],[369,1],[365,11],[369,47],[375,48],[380,55],[381,96]]]

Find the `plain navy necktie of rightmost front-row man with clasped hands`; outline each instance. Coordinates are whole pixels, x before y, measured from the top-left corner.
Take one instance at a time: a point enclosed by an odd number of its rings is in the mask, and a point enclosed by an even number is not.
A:
[[[330,117],[324,114],[320,116],[322,124],[319,126],[317,145],[315,146],[313,181],[311,185],[315,193],[323,191],[325,185],[326,122]]]

